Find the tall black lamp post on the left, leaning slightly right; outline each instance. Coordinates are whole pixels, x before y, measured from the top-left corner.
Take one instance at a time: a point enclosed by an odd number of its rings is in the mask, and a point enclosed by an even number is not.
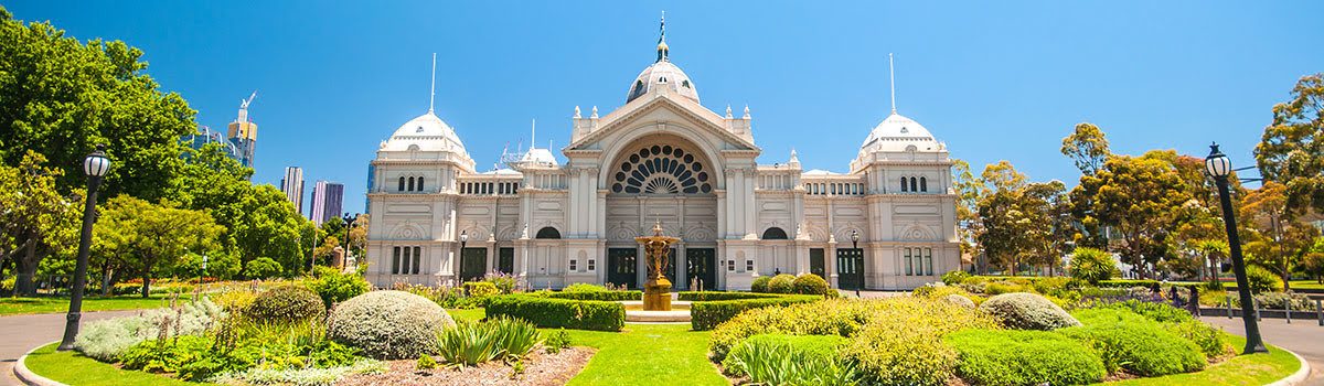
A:
[[[97,145],[97,151],[83,160],[83,173],[87,174],[87,204],[83,205],[83,229],[78,239],[78,267],[74,268],[74,287],[69,297],[69,315],[65,316],[65,337],[60,341],[60,350],[74,349],[74,337],[78,336],[78,320],[82,319],[82,291],[87,286],[87,250],[91,249],[91,225],[97,222],[97,188],[101,186],[101,177],[110,171],[110,159],[106,157],[106,145]]]

